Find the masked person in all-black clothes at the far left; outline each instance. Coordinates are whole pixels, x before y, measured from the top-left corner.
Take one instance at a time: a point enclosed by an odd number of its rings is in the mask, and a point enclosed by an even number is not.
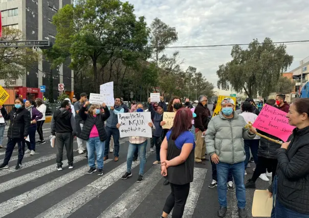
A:
[[[16,98],[13,109],[10,113],[7,113],[5,108],[1,105],[1,114],[5,120],[10,120],[10,126],[8,129],[8,143],[5,152],[5,158],[3,164],[0,165],[0,169],[9,168],[9,161],[13,154],[14,147],[18,145],[18,160],[15,169],[21,168],[21,161],[23,161],[25,154],[25,139],[28,136],[28,130],[30,127],[31,117],[30,112],[25,108],[22,98]]]

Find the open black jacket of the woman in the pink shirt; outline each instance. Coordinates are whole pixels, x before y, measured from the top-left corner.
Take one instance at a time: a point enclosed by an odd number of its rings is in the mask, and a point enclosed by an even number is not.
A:
[[[110,115],[107,106],[104,108],[104,114],[100,113],[96,117],[90,114],[86,114],[85,110],[86,107],[82,106],[78,112],[81,119],[85,121],[79,138],[82,140],[88,140],[92,127],[96,125],[99,132],[100,141],[105,141],[107,139],[107,135],[105,132],[104,121],[107,120]]]

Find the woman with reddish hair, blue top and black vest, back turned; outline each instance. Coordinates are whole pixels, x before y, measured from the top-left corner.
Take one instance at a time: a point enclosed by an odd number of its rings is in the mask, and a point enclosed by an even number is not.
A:
[[[173,209],[172,218],[182,217],[193,181],[194,136],[190,132],[193,115],[189,108],[180,108],[173,127],[166,134],[160,150],[161,174],[170,183],[171,193],[163,207],[166,218]]]

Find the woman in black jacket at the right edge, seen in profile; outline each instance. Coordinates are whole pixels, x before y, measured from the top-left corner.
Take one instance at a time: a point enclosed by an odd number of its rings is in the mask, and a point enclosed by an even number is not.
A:
[[[300,98],[286,114],[296,126],[288,141],[277,150],[278,168],[272,185],[274,218],[309,217],[309,98]]]

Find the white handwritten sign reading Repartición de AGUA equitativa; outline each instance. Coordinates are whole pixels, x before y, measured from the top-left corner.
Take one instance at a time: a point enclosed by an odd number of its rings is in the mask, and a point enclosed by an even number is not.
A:
[[[148,125],[151,122],[150,112],[141,113],[119,113],[120,138],[129,136],[142,136],[152,138],[152,128]]]

